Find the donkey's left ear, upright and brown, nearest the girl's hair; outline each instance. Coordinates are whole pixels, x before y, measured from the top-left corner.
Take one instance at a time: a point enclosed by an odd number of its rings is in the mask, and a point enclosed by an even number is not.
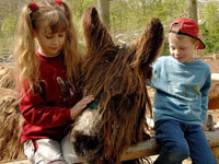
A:
[[[88,51],[100,51],[108,46],[114,46],[114,42],[99,17],[95,8],[89,8],[82,15],[83,40]]]

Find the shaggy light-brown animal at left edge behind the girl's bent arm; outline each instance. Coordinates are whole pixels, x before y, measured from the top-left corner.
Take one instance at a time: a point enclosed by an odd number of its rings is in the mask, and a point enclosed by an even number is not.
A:
[[[18,92],[0,87],[0,161],[24,159],[19,142],[23,118],[19,110]]]

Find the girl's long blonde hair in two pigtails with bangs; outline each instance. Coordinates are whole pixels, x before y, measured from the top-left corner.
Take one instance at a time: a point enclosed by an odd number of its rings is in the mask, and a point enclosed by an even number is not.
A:
[[[35,39],[33,30],[42,22],[46,22],[53,33],[66,32],[66,39],[61,52],[65,56],[68,82],[76,82],[79,78],[80,54],[78,52],[78,38],[73,26],[70,9],[67,3],[56,3],[47,0],[36,3],[36,9],[31,10],[31,4],[23,8],[19,24],[14,49],[15,71],[19,73],[18,83],[24,93],[24,80],[28,83],[28,91],[41,89],[39,59],[35,54]]]

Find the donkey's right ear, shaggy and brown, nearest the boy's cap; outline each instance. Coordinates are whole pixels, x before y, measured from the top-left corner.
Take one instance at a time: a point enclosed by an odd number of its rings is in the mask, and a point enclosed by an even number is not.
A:
[[[145,67],[153,62],[161,52],[164,34],[163,26],[159,19],[151,19],[143,34],[137,38],[131,49],[136,51],[132,62],[134,67]]]

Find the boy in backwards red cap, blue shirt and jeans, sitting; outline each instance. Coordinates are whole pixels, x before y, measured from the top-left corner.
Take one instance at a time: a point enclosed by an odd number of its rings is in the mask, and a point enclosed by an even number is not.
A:
[[[153,114],[155,139],[162,149],[154,164],[216,164],[203,131],[211,84],[210,68],[194,58],[205,45],[198,38],[198,24],[187,17],[170,26],[171,56],[153,65],[155,89]]]

